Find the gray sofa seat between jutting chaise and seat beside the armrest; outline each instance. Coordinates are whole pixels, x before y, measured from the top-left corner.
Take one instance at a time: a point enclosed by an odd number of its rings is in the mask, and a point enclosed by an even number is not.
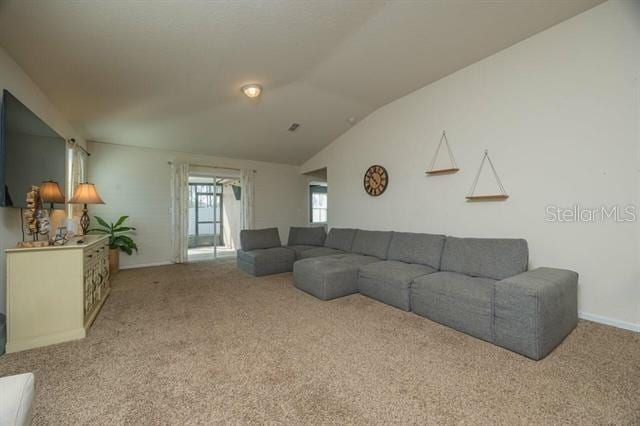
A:
[[[411,283],[417,277],[435,272],[435,269],[412,263],[387,260],[360,267],[358,290],[360,293],[388,305],[408,311],[411,307]]]

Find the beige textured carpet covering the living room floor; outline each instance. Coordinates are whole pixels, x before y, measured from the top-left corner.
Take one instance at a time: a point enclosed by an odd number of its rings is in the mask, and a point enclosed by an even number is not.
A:
[[[640,336],[582,321],[543,361],[232,261],[120,272],[90,335],[0,357],[36,424],[640,424]]]

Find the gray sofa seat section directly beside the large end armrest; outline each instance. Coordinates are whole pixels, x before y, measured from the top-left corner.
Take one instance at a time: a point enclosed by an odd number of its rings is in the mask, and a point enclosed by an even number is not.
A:
[[[458,331],[493,342],[496,280],[455,272],[416,278],[411,286],[411,310]]]

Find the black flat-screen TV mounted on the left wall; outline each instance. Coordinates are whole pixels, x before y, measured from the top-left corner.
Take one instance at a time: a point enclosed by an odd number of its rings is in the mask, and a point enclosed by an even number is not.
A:
[[[65,139],[4,90],[0,113],[0,206],[26,207],[31,185],[49,180],[58,182],[64,191],[66,156]]]

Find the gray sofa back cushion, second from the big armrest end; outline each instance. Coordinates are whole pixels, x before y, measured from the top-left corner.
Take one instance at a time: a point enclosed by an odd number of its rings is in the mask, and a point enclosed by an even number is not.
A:
[[[440,269],[444,235],[394,232],[387,259]]]

